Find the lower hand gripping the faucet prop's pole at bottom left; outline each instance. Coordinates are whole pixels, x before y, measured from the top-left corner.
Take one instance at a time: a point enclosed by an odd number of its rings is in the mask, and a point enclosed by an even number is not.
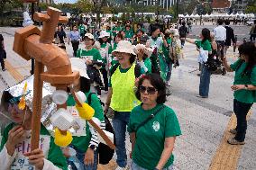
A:
[[[42,170],[44,166],[44,155],[40,148],[37,148],[29,153],[24,153],[25,157],[28,157],[30,164],[35,166],[37,169]]]

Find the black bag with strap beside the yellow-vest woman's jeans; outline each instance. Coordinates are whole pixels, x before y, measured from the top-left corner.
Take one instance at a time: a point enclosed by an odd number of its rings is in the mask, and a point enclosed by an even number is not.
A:
[[[87,102],[88,102],[89,105],[92,103],[92,94],[94,94],[94,93],[88,94],[88,97],[87,97]],[[106,117],[105,114],[104,114],[104,118],[105,118],[105,130],[114,134],[114,129],[111,125],[111,122],[108,120],[108,118]],[[115,144],[116,144],[116,140],[115,140],[115,134],[114,134],[114,145]],[[108,164],[109,161],[114,156],[114,149],[109,148],[104,143],[99,143],[98,144],[97,151],[98,151],[99,164],[102,164],[102,165]]]

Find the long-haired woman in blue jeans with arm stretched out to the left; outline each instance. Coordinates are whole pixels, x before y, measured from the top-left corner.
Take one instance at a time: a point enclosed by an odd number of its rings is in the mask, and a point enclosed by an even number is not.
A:
[[[185,39],[189,43],[197,45],[197,51],[199,51],[198,62],[201,64],[201,74],[200,74],[200,85],[199,85],[199,98],[208,98],[209,87],[210,87],[210,77],[211,71],[205,66],[208,59],[208,55],[212,54],[211,46],[211,35],[208,29],[203,29],[200,34],[201,40]]]

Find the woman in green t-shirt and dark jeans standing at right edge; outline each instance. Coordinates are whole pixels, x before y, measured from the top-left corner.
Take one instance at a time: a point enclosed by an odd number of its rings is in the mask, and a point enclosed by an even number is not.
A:
[[[233,112],[236,116],[236,128],[230,130],[234,138],[227,142],[232,145],[243,145],[247,130],[246,115],[251,105],[256,102],[256,48],[254,43],[246,42],[238,48],[240,57],[232,65],[224,58],[224,67],[229,72],[235,72],[233,85]]]

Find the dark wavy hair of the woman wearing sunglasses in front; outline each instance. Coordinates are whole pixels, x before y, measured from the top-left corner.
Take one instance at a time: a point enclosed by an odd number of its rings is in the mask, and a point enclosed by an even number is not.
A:
[[[151,85],[155,87],[158,90],[158,98],[157,98],[157,103],[165,103],[166,102],[166,85],[160,75],[158,74],[149,74],[146,76],[142,76],[139,80],[139,87],[142,85],[144,80],[149,80],[151,82]],[[136,92],[136,97],[138,100],[141,101],[141,93],[140,93],[140,88],[138,88]]]

